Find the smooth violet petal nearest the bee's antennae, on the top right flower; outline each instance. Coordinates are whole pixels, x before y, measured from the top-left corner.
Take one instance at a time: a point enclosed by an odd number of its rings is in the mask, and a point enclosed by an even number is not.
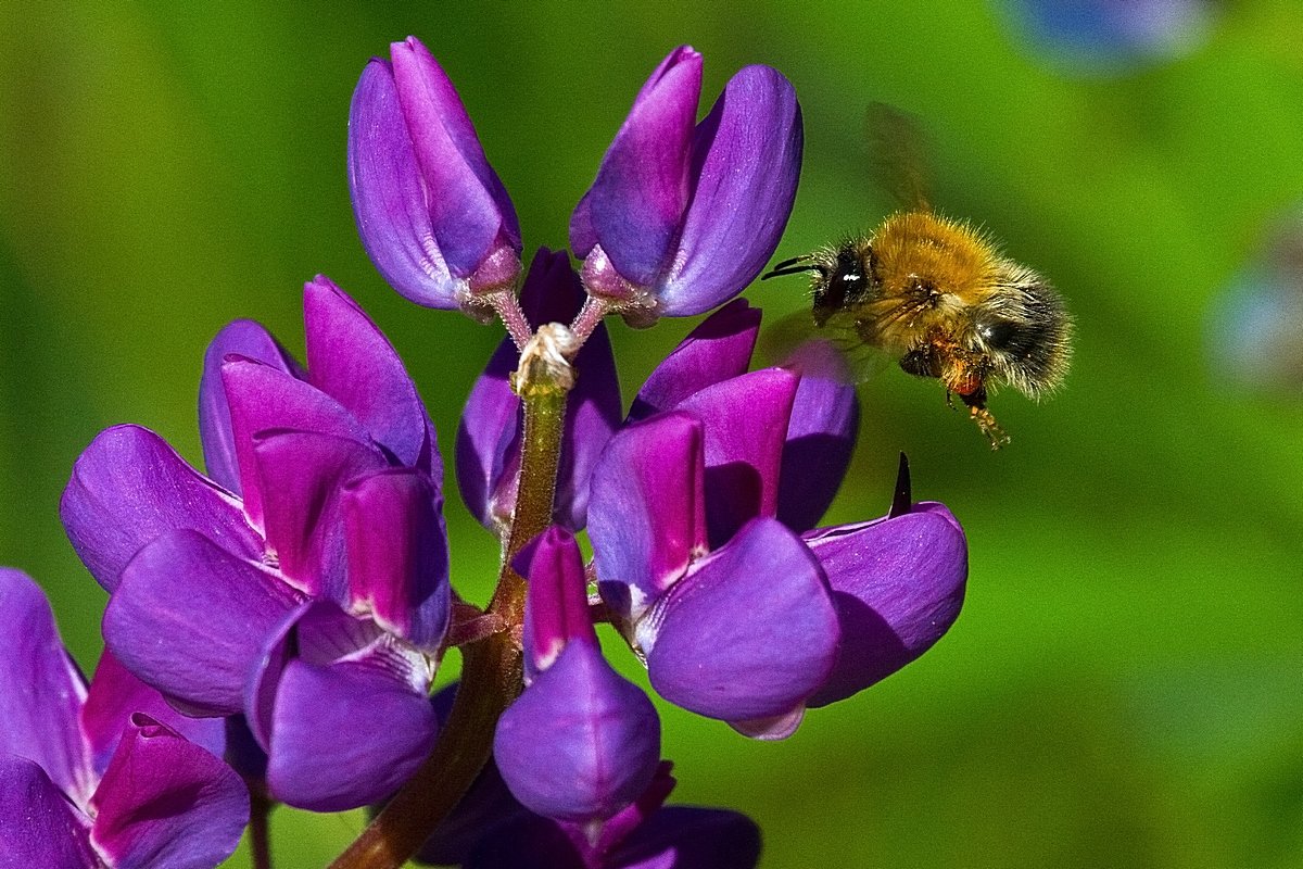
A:
[[[787,227],[801,169],[796,91],[769,66],[734,76],[697,126],[696,186],[675,262],[657,288],[659,313],[701,314],[741,292],[765,268]]]

